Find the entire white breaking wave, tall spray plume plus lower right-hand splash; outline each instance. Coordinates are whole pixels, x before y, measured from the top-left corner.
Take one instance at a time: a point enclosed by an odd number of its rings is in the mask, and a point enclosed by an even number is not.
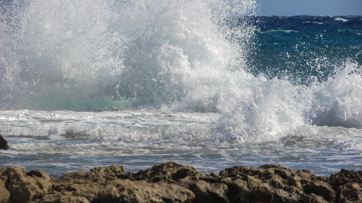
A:
[[[362,127],[354,62],[308,85],[247,71],[257,28],[230,19],[254,1],[0,2],[1,110],[218,112],[229,143]]]

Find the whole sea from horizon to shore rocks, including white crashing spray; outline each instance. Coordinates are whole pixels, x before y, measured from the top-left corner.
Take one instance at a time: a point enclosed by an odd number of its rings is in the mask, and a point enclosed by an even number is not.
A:
[[[362,16],[0,0],[0,167],[362,170]]]

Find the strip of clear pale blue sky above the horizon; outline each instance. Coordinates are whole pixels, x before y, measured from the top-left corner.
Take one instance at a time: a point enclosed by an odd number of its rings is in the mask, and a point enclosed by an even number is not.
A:
[[[255,0],[261,16],[362,16],[362,0]]]

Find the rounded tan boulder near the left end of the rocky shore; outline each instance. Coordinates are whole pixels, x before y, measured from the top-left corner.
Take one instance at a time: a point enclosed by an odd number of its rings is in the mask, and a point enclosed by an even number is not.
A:
[[[39,169],[27,173],[25,168],[9,167],[6,173],[9,178],[7,189],[16,203],[30,202],[46,194],[51,187],[50,177]]]

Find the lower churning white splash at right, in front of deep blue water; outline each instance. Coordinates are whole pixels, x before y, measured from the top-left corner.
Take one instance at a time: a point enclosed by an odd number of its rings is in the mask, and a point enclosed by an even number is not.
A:
[[[325,82],[292,85],[276,77],[254,78],[248,99],[223,113],[212,129],[219,142],[276,141],[310,131],[311,125],[362,128],[361,66],[346,64]],[[307,133],[308,134],[308,133]]]

